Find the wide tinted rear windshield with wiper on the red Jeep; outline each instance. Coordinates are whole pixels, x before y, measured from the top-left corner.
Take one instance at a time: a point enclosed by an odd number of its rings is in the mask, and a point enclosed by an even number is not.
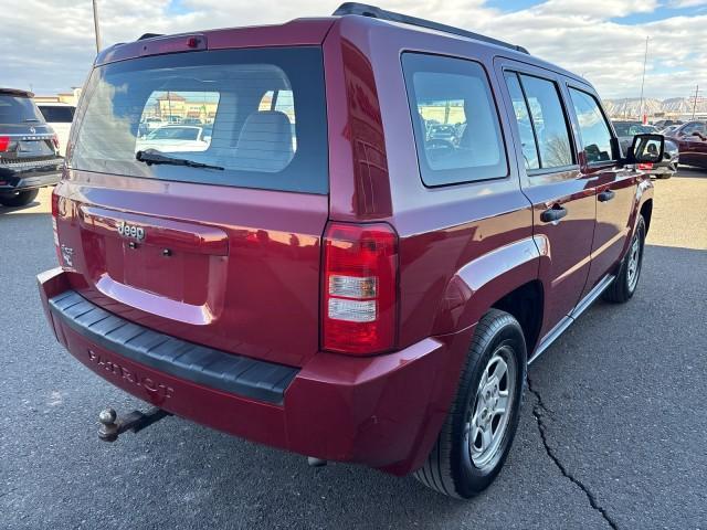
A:
[[[318,47],[190,52],[99,66],[77,120],[74,169],[328,191]]]

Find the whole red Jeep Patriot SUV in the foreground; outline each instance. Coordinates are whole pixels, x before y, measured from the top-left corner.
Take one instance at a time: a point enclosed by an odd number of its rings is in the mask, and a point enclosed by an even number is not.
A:
[[[527,365],[633,295],[663,149],[622,158],[592,86],[519,46],[369,6],[148,35],[86,83],[42,301],[163,411],[471,497]]]

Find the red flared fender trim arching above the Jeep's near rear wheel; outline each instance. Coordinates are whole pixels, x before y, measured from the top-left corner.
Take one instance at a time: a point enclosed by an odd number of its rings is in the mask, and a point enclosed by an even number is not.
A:
[[[537,279],[541,259],[549,259],[549,242],[544,235],[535,235],[468,262],[444,290],[433,335],[451,333],[478,322],[494,303]]]

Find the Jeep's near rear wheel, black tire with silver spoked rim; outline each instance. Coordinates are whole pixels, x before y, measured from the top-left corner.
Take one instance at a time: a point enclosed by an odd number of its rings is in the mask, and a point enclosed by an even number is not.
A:
[[[437,442],[414,477],[460,499],[487,488],[516,435],[525,378],[526,343],[520,325],[505,311],[489,310],[476,327]],[[500,413],[504,403],[506,412]]]

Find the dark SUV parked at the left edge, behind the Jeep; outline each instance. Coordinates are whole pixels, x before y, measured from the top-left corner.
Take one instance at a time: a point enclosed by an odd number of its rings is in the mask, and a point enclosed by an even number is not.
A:
[[[27,91],[0,88],[0,204],[23,206],[59,182],[59,139]]]

